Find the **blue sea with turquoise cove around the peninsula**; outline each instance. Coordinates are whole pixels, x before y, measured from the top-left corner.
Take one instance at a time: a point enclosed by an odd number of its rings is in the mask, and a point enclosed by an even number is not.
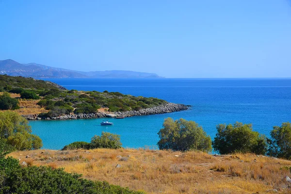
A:
[[[61,149],[75,141],[91,140],[108,131],[119,134],[123,147],[156,146],[164,118],[193,120],[213,137],[220,123],[252,123],[269,136],[273,126],[291,121],[291,79],[46,79],[67,89],[120,92],[158,97],[192,105],[188,111],[125,119],[110,119],[113,126],[100,126],[102,119],[30,121],[43,148]]]

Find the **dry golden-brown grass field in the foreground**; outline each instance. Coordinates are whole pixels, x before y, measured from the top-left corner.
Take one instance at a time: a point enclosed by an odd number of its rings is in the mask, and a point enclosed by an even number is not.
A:
[[[195,151],[143,149],[36,150],[10,154],[20,162],[27,162],[27,155],[33,159],[33,165],[64,167],[83,178],[105,180],[149,194],[270,194],[273,189],[281,194],[291,193],[291,185],[284,179],[286,175],[291,177],[284,168],[291,166],[291,161],[254,154],[213,156]],[[116,168],[117,164],[121,166]]]

